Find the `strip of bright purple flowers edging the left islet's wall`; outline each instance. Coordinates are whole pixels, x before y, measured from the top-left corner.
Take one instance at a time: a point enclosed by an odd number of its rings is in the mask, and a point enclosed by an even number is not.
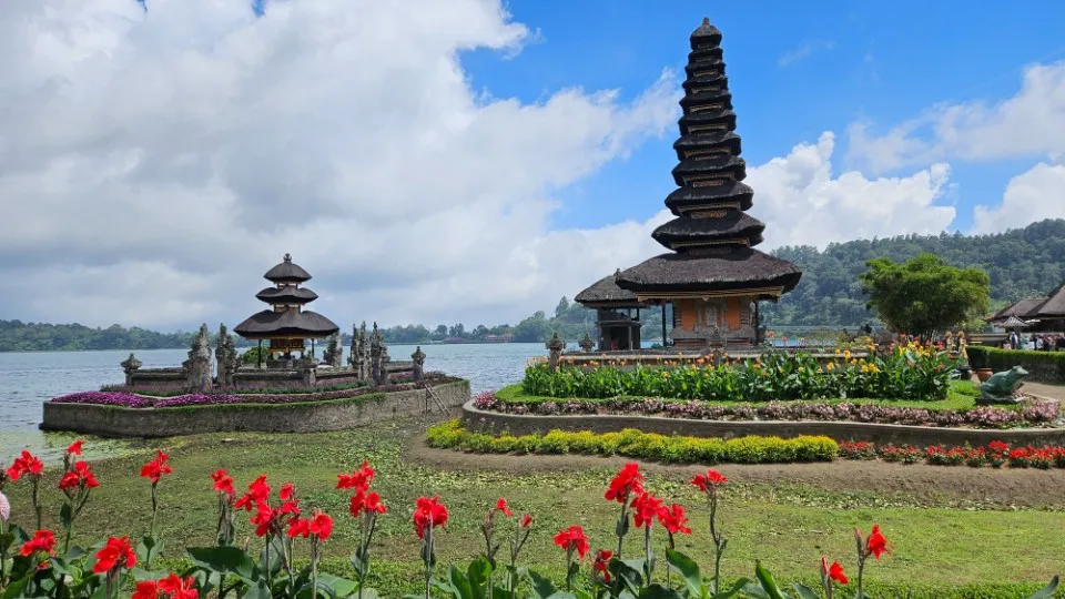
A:
[[[454,383],[458,378],[436,376],[424,383],[429,386]],[[173,397],[155,398],[130,392],[81,392],[54,397],[57,404],[93,404],[104,406],[120,406],[128,408],[168,408],[182,406],[211,406],[224,404],[298,404],[323,402],[331,399],[347,399],[381,393],[410,390],[417,388],[413,383],[393,385],[366,386],[354,388],[316,392],[316,393],[282,393],[282,394],[184,394]]]

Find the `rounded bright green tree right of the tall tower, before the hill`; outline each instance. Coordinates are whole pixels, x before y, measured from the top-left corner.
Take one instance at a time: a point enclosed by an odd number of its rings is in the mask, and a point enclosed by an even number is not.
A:
[[[866,307],[900,333],[927,335],[987,312],[991,280],[980,268],[956,268],[934,254],[865,265],[869,271],[859,278]]]

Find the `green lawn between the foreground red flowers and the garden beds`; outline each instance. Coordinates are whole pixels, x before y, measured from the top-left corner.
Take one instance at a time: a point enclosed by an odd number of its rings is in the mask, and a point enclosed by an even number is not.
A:
[[[183,546],[212,544],[215,499],[209,475],[223,467],[236,478],[239,489],[260,474],[268,475],[275,488],[283,481],[293,481],[306,509],[321,508],[334,515],[337,526],[326,544],[326,568],[343,573],[354,545],[355,526],[346,517],[347,496],[334,487],[337,473],[351,471],[363,459],[369,459],[377,468],[374,485],[389,507],[379,521],[373,548],[375,568],[383,577],[378,585],[386,587],[389,596],[409,590],[402,580],[413,580],[413,576],[404,576],[407,566],[417,561],[418,545],[410,514],[414,500],[423,495],[440,495],[452,514],[446,530],[438,537],[439,558],[445,564],[468,560],[481,550],[479,526],[485,510],[498,497],[506,497],[515,510],[535,516],[535,532],[525,557],[535,557],[539,570],[561,569],[564,557],[552,546],[551,537],[564,526],[584,526],[594,547],[613,545],[616,504],[602,499],[611,469],[521,475],[432,468],[404,459],[406,440],[424,435],[424,424],[405,419],[314,435],[210,434],[134,441],[133,454],[94,464],[101,486],[75,522],[74,539],[88,546],[108,535],[138,537],[146,531],[150,484],[138,473],[159,447],[171,454],[174,468],[174,474],[160,484],[159,520],[166,546],[164,558],[172,565],[183,558]],[[62,497],[55,490],[58,469],[47,468],[42,481],[45,518],[50,518],[45,526],[53,529],[59,528],[55,518]],[[728,474],[728,466],[720,469]],[[689,507],[696,532],[680,538],[679,548],[709,564],[702,499],[687,477],[650,476],[648,483],[668,501]],[[6,493],[13,506],[12,520],[29,528],[29,485],[22,480],[8,484]],[[874,583],[1042,586],[1058,573],[1065,512],[986,509],[987,506],[978,505],[957,509],[945,500],[937,501],[797,485],[732,485],[723,491],[720,509],[721,525],[730,539],[724,572],[730,577],[749,576],[758,558],[778,580],[810,580],[822,554],[830,561],[840,559],[853,569],[853,529],[868,531],[873,524],[880,524],[895,550],[892,558],[869,568],[868,577]],[[240,516],[239,542],[243,542],[251,527],[246,517]],[[638,536],[630,535],[627,554],[640,551]],[[663,539],[656,538],[660,547]],[[251,546],[257,544],[251,537]],[[303,556],[306,551],[305,545],[297,549]],[[936,595],[930,595],[933,596]]]

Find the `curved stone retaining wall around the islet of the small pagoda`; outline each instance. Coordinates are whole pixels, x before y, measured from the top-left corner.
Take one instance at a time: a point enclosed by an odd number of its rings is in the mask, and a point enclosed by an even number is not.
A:
[[[454,413],[469,402],[469,382],[432,387]],[[43,430],[71,430],[102,437],[173,437],[200,433],[322,433],[392,419],[439,414],[425,389],[367,394],[343,399],[293,404],[221,404],[169,408],[128,408],[44,402]]]

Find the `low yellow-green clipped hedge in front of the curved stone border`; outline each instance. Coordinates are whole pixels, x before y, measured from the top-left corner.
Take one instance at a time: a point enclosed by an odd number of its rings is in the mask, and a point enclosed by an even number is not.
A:
[[[829,437],[678,437],[627,428],[620,433],[590,430],[546,435],[499,436],[473,433],[459,420],[448,420],[428,430],[428,444],[481,454],[590,454],[652,459],[661,463],[787,464],[832,461],[839,446]]]

